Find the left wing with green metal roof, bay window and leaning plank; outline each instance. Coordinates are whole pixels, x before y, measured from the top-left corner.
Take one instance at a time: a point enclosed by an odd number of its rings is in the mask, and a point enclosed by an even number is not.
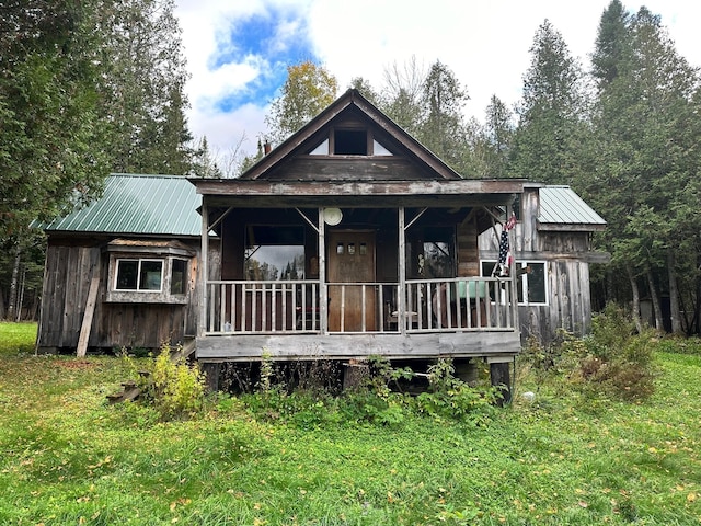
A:
[[[45,226],[37,348],[82,354],[194,338],[200,202],[182,176],[113,174],[100,199]]]

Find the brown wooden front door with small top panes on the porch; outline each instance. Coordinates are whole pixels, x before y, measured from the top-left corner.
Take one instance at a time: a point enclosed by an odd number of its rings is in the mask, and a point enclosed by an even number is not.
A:
[[[334,332],[377,330],[375,232],[330,231],[327,261],[331,284],[329,285],[329,330]],[[345,283],[348,285],[336,285]]]

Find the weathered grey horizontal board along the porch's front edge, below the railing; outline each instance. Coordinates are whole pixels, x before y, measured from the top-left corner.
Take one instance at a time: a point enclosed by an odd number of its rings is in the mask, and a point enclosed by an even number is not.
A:
[[[197,339],[200,362],[249,362],[263,353],[273,359],[350,359],[382,355],[391,359],[484,357],[506,362],[520,351],[518,331],[421,334],[250,334]]]

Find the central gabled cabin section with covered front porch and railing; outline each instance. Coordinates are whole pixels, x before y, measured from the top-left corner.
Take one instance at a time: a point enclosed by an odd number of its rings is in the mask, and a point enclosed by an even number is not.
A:
[[[461,178],[356,90],[240,178],[191,181],[200,253],[221,241],[220,272],[203,262],[199,279],[196,356],[211,370],[265,353],[507,371],[518,354],[514,264],[482,276],[478,239],[525,182]]]

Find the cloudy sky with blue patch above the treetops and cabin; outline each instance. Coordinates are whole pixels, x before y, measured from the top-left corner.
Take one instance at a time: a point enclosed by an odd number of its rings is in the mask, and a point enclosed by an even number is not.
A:
[[[467,90],[466,116],[483,121],[490,98],[520,98],[529,49],[549,20],[571,55],[588,68],[610,0],[175,0],[191,75],[188,125],[217,157],[253,153],[287,67],[312,60],[338,80],[338,95],[363,77],[376,89],[384,72],[411,60],[440,60]],[[701,2],[622,0],[662,16],[677,50],[701,66]]]

